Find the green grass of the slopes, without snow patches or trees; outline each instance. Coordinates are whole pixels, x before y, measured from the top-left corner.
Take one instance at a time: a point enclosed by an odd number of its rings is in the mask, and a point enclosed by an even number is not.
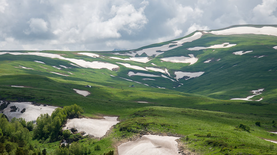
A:
[[[108,52],[93,52],[105,55],[105,60],[103,60],[101,58],[78,55],[77,52],[43,51],[63,54],[64,57],[68,58],[105,61],[113,64],[122,62],[141,67],[153,67],[151,63],[154,63],[161,68],[168,68],[171,75],[174,71],[179,70],[187,72],[205,71],[205,74],[198,78],[180,80],[184,83],[181,87],[177,87],[179,83],[160,77],[154,78],[159,79],[159,81],[156,80],[155,82],[153,80],[142,80],[144,77],[140,76],[129,77],[126,75],[129,71],[148,74],[149,72],[132,70],[120,65],[118,65],[120,66],[120,71],[114,72],[107,69],[78,68],[70,65],[65,60],[59,59],[4,54],[0,55],[0,97],[10,100],[37,101],[61,107],[77,103],[84,108],[85,116],[111,115],[120,116],[120,120],[125,120],[116,125],[112,133],[100,141],[93,139],[82,141],[82,143],[91,148],[96,144],[101,145],[103,149],[100,152],[94,151],[92,152],[93,154],[108,152],[108,150],[114,149],[114,143],[132,137],[137,134],[136,132],[151,132],[151,130],[155,133],[188,135],[188,140],[182,138],[183,143],[186,143],[187,147],[200,154],[219,152],[222,146],[226,147],[226,149],[221,154],[227,153],[228,150],[231,150],[229,154],[237,154],[238,152],[274,154],[277,150],[276,147],[272,149],[270,146],[273,143],[262,140],[259,137],[277,140],[276,134],[267,132],[277,130],[272,127],[273,124],[271,123],[272,120],[277,121],[275,101],[277,89],[274,88],[276,81],[273,79],[276,77],[274,70],[277,69],[274,66],[276,64],[274,61],[276,51],[272,48],[276,46],[275,40],[276,37],[272,36],[239,35],[238,37],[236,35],[215,36],[206,34],[199,40],[185,43],[184,46],[165,52],[165,54],[154,58],[147,64],[110,60],[107,56],[114,55]],[[213,49],[187,50],[189,47],[206,47],[224,42],[237,45],[232,48],[216,49],[214,52],[212,52]],[[169,42],[153,44],[143,48],[161,46],[166,43]],[[240,50],[253,50],[253,52],[242,56],[232,54],[232,52]],[[183,63],[162,63],[159,60],[162,57],[186,56],[187,54],[197,56],[199,58],[198,62],[188,66],[188,64]],[[262,55],[265,55],[265,57],[259,59],[254,57]],[[126,56],[118,57],[126,58]],[[203,63],[209,58],[213,58],[213,60],[220,58],[221,60],[218,62],[212,61],[209,64]],[[34,60],[45,62],[45,64],[33,62]],[[256,62],[258,60],[259,63],[253,63],[255,62],[253,60]],[[234,66],[236,64],[238,65]],[[71,68],[58,70],[52,67],[59,67],[59,65]],[[19,66],[33,68],[33,70],[22,69]],[[224,67],[221,68],[222,66]],[[267,68],[264,68],[264,66],[267,66]],[[219,70],[219,68],[221,69]],[[271,69],[272,72],[269,72],[268,70]],[[260,72],[257,72],[257,70]],[[50,72],[70,76],[60,76]],[[73,75],[68,72],[73,73]],[[151,74],[161,75],[159,72],[152,71]],[[110,75],[116,77],[111,77]],[[160,87],[177,88],[175,90],[155,89],[143,84],[126,81],[119,77],[143,82],[153,87],[158,85]],[[84,85],[87,84],[93,87],[85,88]],[[10,87],[11,85],[25,86],[25,88]],[[129,85],[135,85],[136,87],[129,87]],[[262,102],[209,98],[230,99],[233,97],[246,97],[251,95],[249,91],[260,88],[265,88],[265,91],[263,94],[258,95],[256,99],[264,97]],[[87,90],[91,94],[83,97],[72,89]],[[209,97],[187,93],[198,93]],[[149,103],[137,103],[137,101]],[[260,121],[262,126],[257,127],[255,121]],[[251,132],[236,129],[239,123],[250,126]],[[121,127],[124,129],[130,128],[134,133],[127,130],[119,131]],[[207,137],[208,132],[211,132],[211,137]],[[207,140],[214,143],[208,144]],[[222,144],[221,146],[215,145],[217,143]],[[53,149],[57,147],[54,145],[50,144],[50,146],[45,145],[44,147],[48,147],[48,151],[53,152]],[[237,149],[234,149],[236,145]]]

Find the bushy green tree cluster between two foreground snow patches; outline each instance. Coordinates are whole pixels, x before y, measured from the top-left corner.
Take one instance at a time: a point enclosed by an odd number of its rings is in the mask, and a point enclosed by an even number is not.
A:
[[[84,113],[83,109],[74,104],[64,108],[56,108],[52,115],[41,114],[36,120],[33,130],[35,138],[55,142],[62,138],[62,125],[67,119],[80,117]]]

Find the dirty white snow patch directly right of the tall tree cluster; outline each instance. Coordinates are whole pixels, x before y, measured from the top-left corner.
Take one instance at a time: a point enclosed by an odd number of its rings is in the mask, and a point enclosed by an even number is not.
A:
[[[76,128],[78,132],[86,132],[84,136],[91,134],[95,137],[102,137],[106,134],[110,127],[119,122],[116,119],[117,117],[108,116],[105,116],[104,119],[70,119],[67,121],[66,127],[64,127],[63,130]]]

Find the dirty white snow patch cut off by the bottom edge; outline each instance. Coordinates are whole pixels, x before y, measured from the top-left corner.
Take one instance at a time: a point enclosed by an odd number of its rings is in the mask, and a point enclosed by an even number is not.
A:
[[[179,155],[179,137],[143,135],[135,141],[129,141],[118,146],[119,155]]]

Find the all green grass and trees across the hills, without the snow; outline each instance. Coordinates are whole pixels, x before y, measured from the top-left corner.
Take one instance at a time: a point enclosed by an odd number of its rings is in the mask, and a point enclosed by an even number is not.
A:
[[[129,57],[114,55],[112,52],[87,52],[101,57],[92,58],[77,54],[79,52],[41,51],[41,53],[59,54],[64,58],[116,64],[120,67],[116,71],[104,68],[79,68],[70,61],[58,58],[2,54],[0,55],[1,100],[32,101],[64,109],[57,109],[51,116],[41,115],[33,131],[30,123],[28,125],[24,120],[13,119],[8,123],[1,115],[0,127],[3,136],[0,151],[3,150],[4,154],[8,154],[8,151],[16,154],[29,150],[29,154],[31,151],[43,154],[45,149],[46,154],[70,154],[74,151],[78,152],[76,154],[112,154],[112,151],[116,152],[115,146],[121,140],[136,138],[138,134],[163,134],[180,136],[183,148],[189,148],[191,152],[199,154],[276,154],[277,145],[262,139],[277,141],[277,135],[269,132],[277,131],[277,50],[272,48],[277,46],[276,40],[277,36],[271,35],[203,33],[197,40],[186,42],[183,46],[159,56],[150,56],[152,60],[147,63],[109,59],[109,57]],[[153,44],[141,49],[171,42]],[[230,48],[187,50],[225,42],[237,45]],[[232,54],[252,50],[253,52],[243,55]],[[126,52],[129,51],[119,51],[120,54]],[[174,56],[189,57],[188,54],[193,54],[198,61],[189,65],[189,63],[160,60]],[[263,57],[258,58],[260,56]],[[203,63],[207,60],[211,61]],[[163,70],[167,68],[171,77],[161,72],[126,68],[116,62],[143,68]],[[176,71],[205,73],[196,78],[176,81],[174,79]],[[164,75],[170,79],[128,76],[128,72]],[[11,85],[24,87],[11,87]],[[92,87],[84,87],[85,85]],[[135,87],[129,87],[131,85]],[[167,89],[158,89],[157,86]],[[86,90],[91,94],[84,97],[73,89]],[[254,95],[250,91],[258,89],[264,91],[251,99],[258,100],[263,97],[261,101],[229,100]],[[70,105],[75,107],[72,106],[73,109],[70,109],[67,107]],[[82,116],[96,118],[105,115],[118,116],[121,122],[101,139],[82,137],[80,134],[61,130],[68,118]],[[7,126],[9,128],[5,128]],[[63,139],[72,145],[60,146]]]

